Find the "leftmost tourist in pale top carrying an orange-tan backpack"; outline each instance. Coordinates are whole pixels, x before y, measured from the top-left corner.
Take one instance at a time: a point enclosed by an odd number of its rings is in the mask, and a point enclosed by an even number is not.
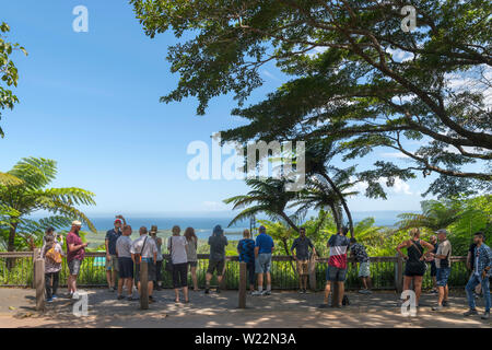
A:
[[[61,245],[55,241],[54,235],[47,235],[42,254],[45,259],[46,302],[52,303],[54,299],[57,299],[63,249],[61,248]]]

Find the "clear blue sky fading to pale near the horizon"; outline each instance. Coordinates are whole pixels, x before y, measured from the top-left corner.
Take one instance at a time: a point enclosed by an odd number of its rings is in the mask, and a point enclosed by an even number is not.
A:
[[[80,4],[89,11],[86,33],[72,28],[72,10]],[[97,206],[85,211],[94,214],[216,213],[231,209],[223,199],[248,190],[242,180],[192,180],[187,174],[191,142],[211,144],[213,132],[244,121],[231,116],[236,104],[229,95],[212,100],[204,116],[196,115],[192,97],[160,103],[179,79],[165,60],[168,46],[177,43],[173,33],[147,37],[131,5],[116,0],[2,1],[0,22],[11,26],[9,40],[28,51],[13,56],[20,104],[2,114],[0,171],[26,156],[56,160],[52,187],[93,191]],[[260,72],[265,84],[247,104],[285,81],[272,65]],[[363,170],[382,159],[406,162],[399,153],[377,149],[356,163]],[[349,206],[353,211],[419,210],[429,183],[399,180],[387,200],[361,195]]]

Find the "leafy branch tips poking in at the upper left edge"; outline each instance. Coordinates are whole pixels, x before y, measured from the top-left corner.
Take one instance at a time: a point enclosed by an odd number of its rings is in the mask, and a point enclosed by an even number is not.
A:
[[[17,68],[11,59],[11,55],[20,50],[27,56],[26,50],[22,46],[7,42],[5,33],[8,32],[10,32],[9,25],[4,22],[0,23],[0,78],[1,84],[7,85],[2,86],[0,84],[0,119],[2,117],[1,110],[5,108],[13,109],[14,104],[19,103],[17,96],[10,90],[10,86],[17,86],[19,81]],[[0,137],[3,138],[3,130],[0,127]]]

